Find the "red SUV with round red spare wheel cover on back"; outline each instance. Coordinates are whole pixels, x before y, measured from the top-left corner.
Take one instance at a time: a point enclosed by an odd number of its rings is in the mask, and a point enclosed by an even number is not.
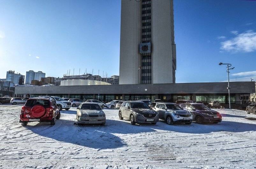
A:
[[[28,99],[21,108],[19,123],[22,126],[29,122],[51,122],[51,125],[55,125],[56,119],[60,117],[61,113],[54,99],[34,97]]]

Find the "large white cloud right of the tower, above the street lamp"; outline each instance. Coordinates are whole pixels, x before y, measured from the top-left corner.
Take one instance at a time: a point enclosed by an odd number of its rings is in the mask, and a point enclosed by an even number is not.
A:
[[[228,52],[256,51],[256,32],[249,30],[237,34],[235,38],[221,42],[221,50]]]

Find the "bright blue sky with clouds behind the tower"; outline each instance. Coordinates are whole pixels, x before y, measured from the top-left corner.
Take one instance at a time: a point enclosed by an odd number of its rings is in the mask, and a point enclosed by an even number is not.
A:
[[[120,0],[0,0],[0,78],[6,71],[119,74]],[[256,80],[256,1],[174,0],[176,82]],[[153,43],[153,42],[152,42]]]

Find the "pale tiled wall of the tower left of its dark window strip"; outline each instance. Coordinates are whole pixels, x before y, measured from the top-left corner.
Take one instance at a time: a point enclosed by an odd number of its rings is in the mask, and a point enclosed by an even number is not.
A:
[[[122,0],[119,84],[139,84],[140,42],[141,3],[135,0]]]

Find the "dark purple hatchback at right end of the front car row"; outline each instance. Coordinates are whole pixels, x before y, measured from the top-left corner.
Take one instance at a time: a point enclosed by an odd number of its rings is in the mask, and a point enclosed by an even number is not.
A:
[[[222,121],[219,112],[211,110],[201,103],[183,103],[180,107],[189,111],[196,123],[220,123]]]

